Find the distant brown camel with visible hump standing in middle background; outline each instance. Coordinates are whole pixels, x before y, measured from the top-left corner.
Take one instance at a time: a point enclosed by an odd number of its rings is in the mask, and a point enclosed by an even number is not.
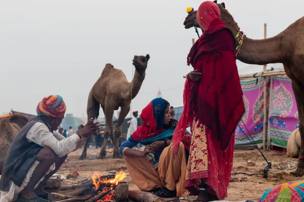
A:
[[[104,139],[98,159],[105,159],[105,148],[109,136],[114,144],[113,158],[120,158],[118,140],[122,132],[122,124],[130,111],[131,100],[139,92],[144,80],[149,58],[149,55],[134,56],[133,65],[136,71],[133,81],[130,83],[122,70],[115,69],[111,64],[106,64],[101,76],[91,89],[87,107],[88,119],[98,118],[100,105],[105,115]],[[121,107],[121,112],[114,131],[113,113],[119,107]],[[79,158],[81,160],[87,158],[89,140],[90,137],[85,141],[83,153]]]

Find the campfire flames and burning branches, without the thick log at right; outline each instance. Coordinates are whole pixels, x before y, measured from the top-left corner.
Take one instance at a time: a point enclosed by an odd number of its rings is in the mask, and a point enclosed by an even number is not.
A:
[[[127,174],[124,171],[120,171],[117,175],[102,175],[96,172],[87,182],[49,194],[49,200],[61,202],[127,200],[128,184],[122,181],[125,177]],[[116,194],[116,190],[119,190],[117,191],[119,193]]]

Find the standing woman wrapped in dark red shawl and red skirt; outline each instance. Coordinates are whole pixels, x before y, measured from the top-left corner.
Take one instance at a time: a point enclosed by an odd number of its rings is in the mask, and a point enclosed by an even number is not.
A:
[[[197,19],[203,35],[188,54],[184,111],[173,135],[174,152],[192,125],[185,188],[196,201],[224,199],[231,178],[235,128],[245,112],[236,65],[235,39],[213,2],[203,2]]]

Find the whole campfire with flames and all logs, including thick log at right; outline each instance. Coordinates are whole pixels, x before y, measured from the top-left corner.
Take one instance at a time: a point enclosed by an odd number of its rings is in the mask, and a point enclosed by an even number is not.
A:
[[[164,198],[153,193],[129,190],[124,182],[127,174],[120,171],[117,175],[102,175],[95,172],[92,179],[87,179],[81,184],[61,184],[57,188],[60,191],[49,193],[49,201],[57,202],[103,202],[103,201],[128,201],[128,199],[143,202],[165,202]],[[59,180],[60,179],[52,179]]]

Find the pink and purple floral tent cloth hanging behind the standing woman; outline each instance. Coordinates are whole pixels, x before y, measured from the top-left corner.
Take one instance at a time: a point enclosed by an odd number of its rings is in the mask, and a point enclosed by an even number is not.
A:
[[[246,111],[236,128],[236,145],[251,144],[244,135],[249,133],[256,143],[262,143],[264,118],[263,79],[241,81]],[[287,76],[275,76],[267,83],[268,139],[271,144],[286,147],[291,132],[298,127],[298,113],[291,80]],[[246,129],[246,127],[247,129]],[[268,141],[270,142],[270,141]]]

